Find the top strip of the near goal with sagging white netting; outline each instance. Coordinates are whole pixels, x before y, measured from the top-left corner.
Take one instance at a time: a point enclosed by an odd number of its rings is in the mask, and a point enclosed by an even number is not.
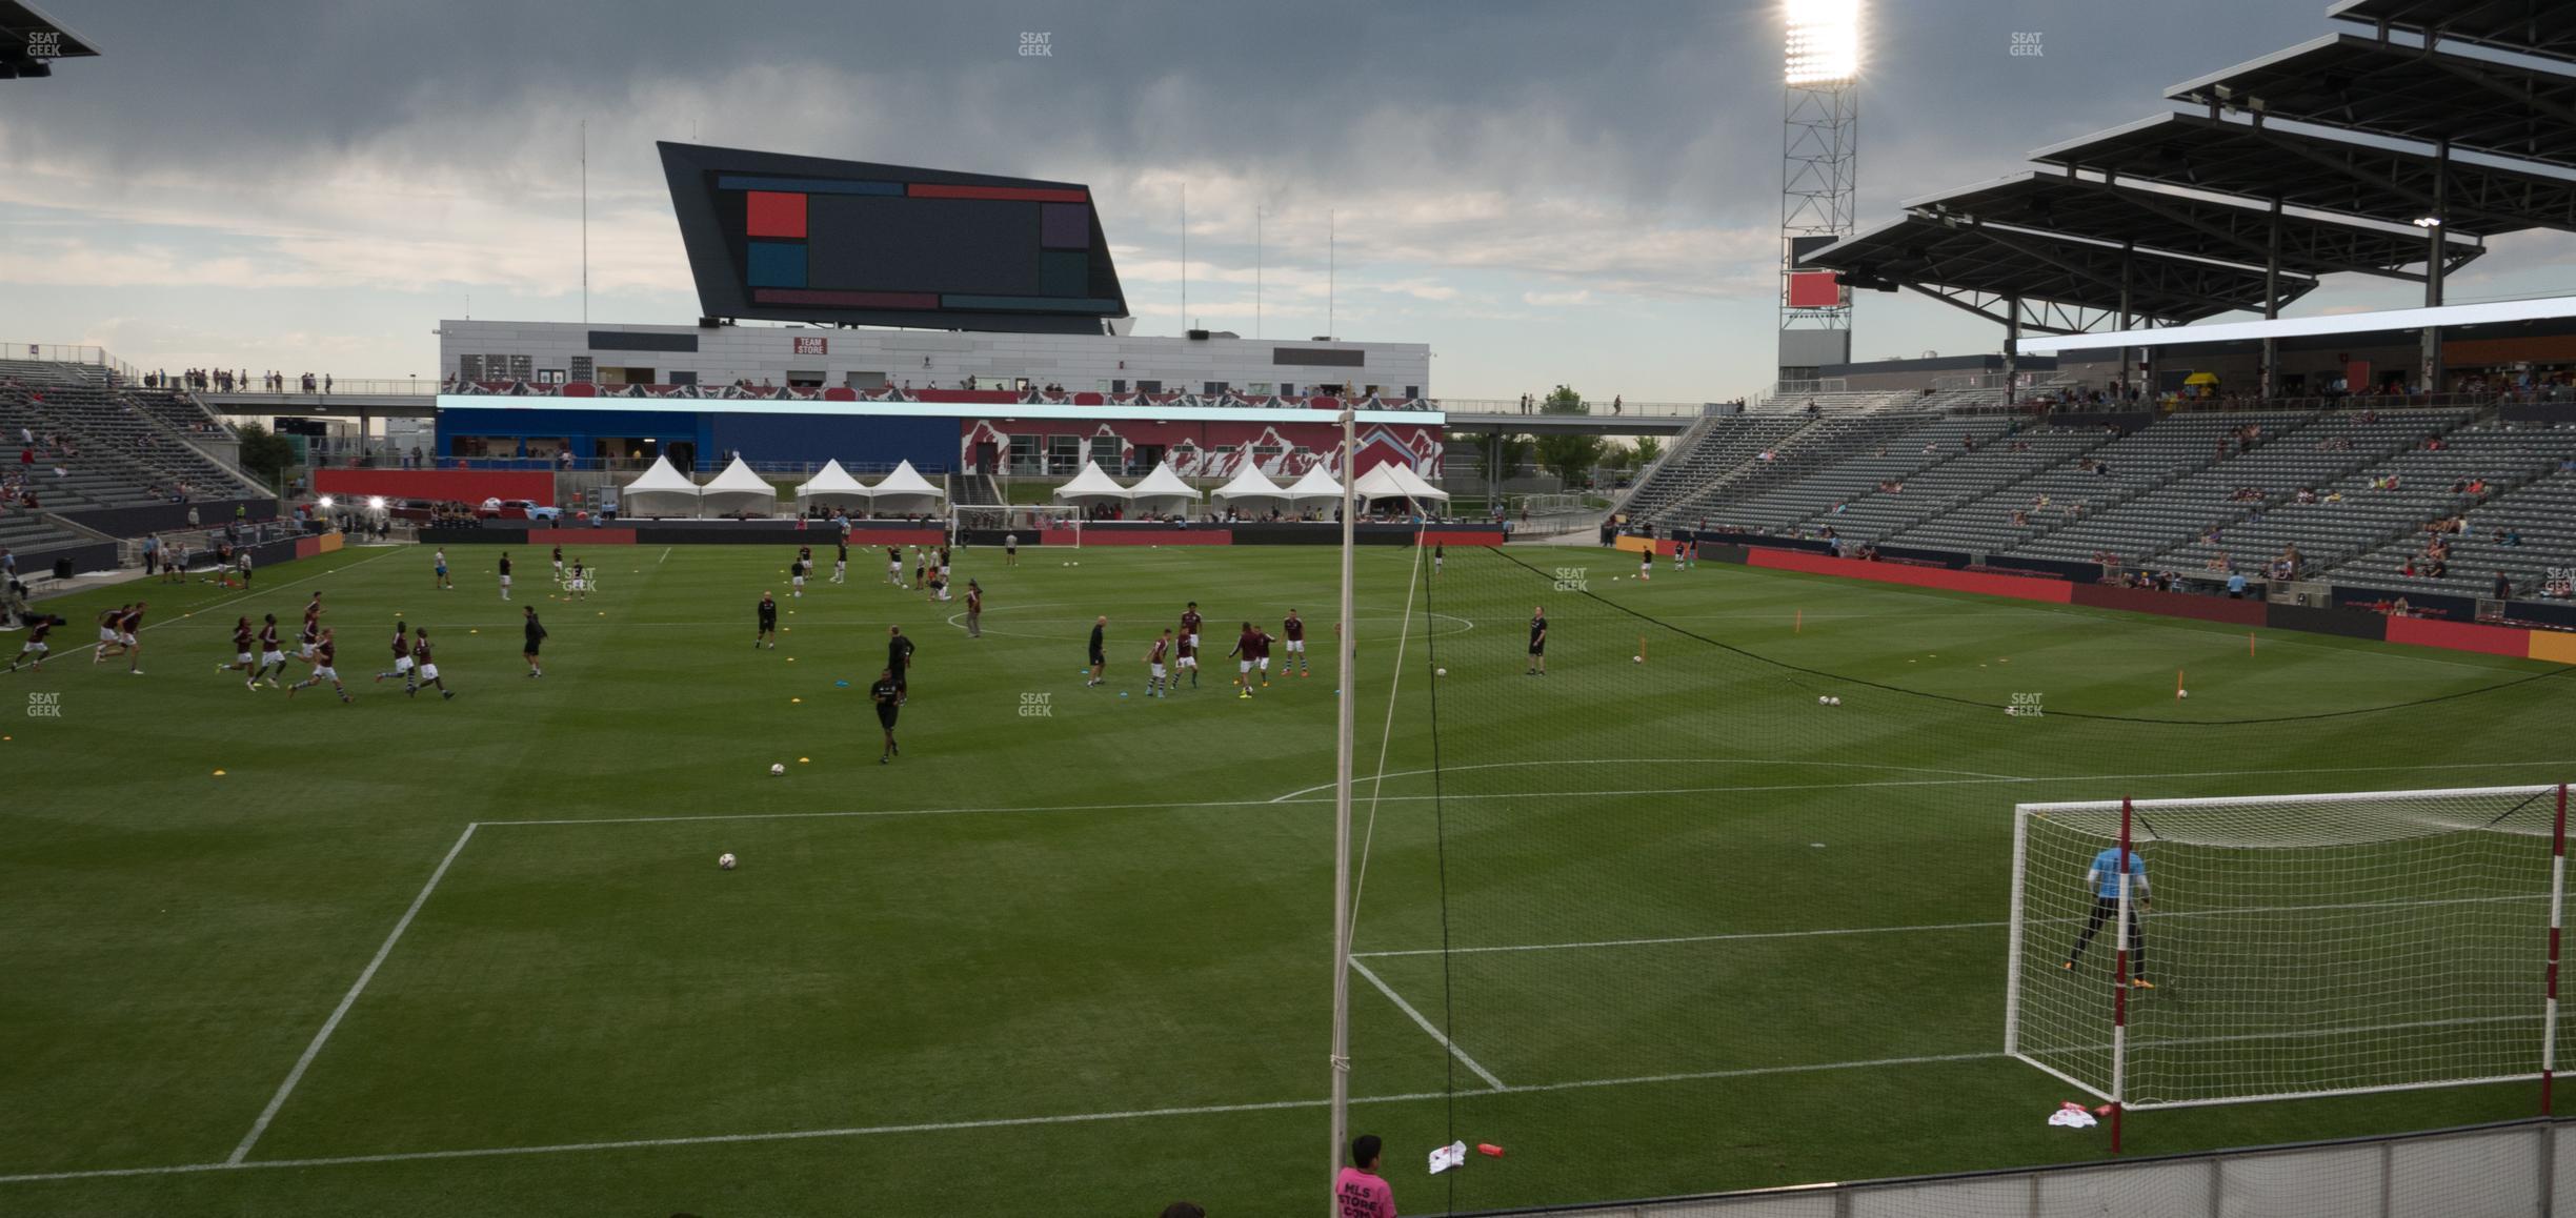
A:
[[[2048,821],[2056,829],[2120,839],[2123,811],[2138,847],[2156,842],[2208,845],[2231,850],[2321,847],[2398,842],[2452,832],[2509,832],[2550,837],[2561,783],[2486,785],[2442,791],[2339,791],[2303,796],[2192,796],[2192,798],[2087,798],[2058,803],[2014,803],[2017,819]],[[2254,839],[2246,834],[2249,806],[2306,809],[2298,821],[2269,824]]]

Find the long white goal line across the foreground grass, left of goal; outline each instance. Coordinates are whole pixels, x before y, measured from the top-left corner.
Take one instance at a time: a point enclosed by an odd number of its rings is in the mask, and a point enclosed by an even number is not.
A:
[[[1502,1087],[1499,1092],[1468,1092],[1468,1100],[1484,1094],[1520,1094],[1520,1092],[1579,1092],[1595,1087],[1649,1087],[1672,1082],[1721,1082],[1721,1079],[1759,1079],[1772,1074],[1826,1074],[1826,1071],[1865,1071],[1888,1066],[1942,1066],[1958,1061],[1999,1061],[2009,1053],[1922,1053],[1904,1058],[1875,1058],[1875,1061],[1814,1061],[1793,1066],[1739,1066],[1716,1071],[1687,1071],[1687,1074],[1633,1074],[1620,1079],[1571,1079],[1571,1082],[1540,1082],[1522,1087]],[[1352,1105],[1404,1105],[1450,1100],[1450,1092],[1404,1092],[1404,1094],[1355,1094]],[[894,1133],[953,1133],[953,1130],[994,1130],[994,1128],[1025,1128],[1025,1125],[1090,1125],[1108,1120],[1154,1120],[1154,1118],[1211,1118],[1229,1112],[1280,1112],[1298,1107],[1329,1107],[1332,1100],[1265,1100],[1249,1105],[1195,1105],[1195,1107],[1131,1107],[1113,1112],[1054,1112],[1036,1118],[987,1118],[987,1120],[922,1120],[907,1125],[848,1125],[848,1128],[819,1128],[819,1130],[768,1130],[768,1133],[703,1133],[685,1138],[623,1138],[623,1141],[569,1141],[549,1146],[477,1146],[459,1151],[397,1151],[397,1154],[337,1154],[314,1159],[255,1159],[255,1161],[219,1161],[219,1164],[170,1164],[170,1166],[106,1166],[90,1172],[26,1172],[0,1177],[0,1185],[44,1185],[44,1182],[72,1182],[72,1179],[121,1179],[121,1177],[183,1177],[206,1172],[263,1172],[278,1166],[366,1166],[366,1164],[417,1164],[433,1159],[507,1159],[531,1154],[587,1154],[587,1151],[652,1151],[652,1148],[680,1148],[680,1146],[739,1146],[739,1143],[768,1143],[768,1141],[817,1141],[817,1138],[881,1138]]]

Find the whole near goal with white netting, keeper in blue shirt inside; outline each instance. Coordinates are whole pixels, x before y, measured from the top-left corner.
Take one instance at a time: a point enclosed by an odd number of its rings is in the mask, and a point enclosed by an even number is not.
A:
[[[2123,1107],[2548,1079],[2563,839],[2566,785],[2020,803],[2004,1051]]]

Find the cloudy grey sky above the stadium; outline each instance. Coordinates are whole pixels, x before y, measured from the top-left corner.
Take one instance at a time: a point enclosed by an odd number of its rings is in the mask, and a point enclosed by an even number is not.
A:
[[[587,118],[592,319],[698,314],[652,155],[696,139],[1090,183],[1149,335],[1185,327],[1182,185],[1193,324],[1324,332],[1334,216],[1334,330],[1430,342],[1448,397],[1710,399],[1772,361],[1777,0],[44,3],[108,54],[0,82],[0,340],[428,376],[440,317],[580,317]],[[2324,8],[1870,0],[1862,224]],[[2486,263],[2458,296],[2545,273]],[[1862,299],[1862,358],[1994,345]]]

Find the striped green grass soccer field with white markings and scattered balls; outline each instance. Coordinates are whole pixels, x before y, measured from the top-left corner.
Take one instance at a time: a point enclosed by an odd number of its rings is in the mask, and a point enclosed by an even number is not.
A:
[[[1321,1200],[1334,551],[961,551],[989,592],[969,641],[963,600],[886,587],[871,551],[786,600],[783,548],[603,548],[569,603],[526,548],[544,680],[497,554],[453,546],[451,592],[402,546],[52,605],[57,659],[0,677],[0,1213]],[[1352,1125],[1404,1213],[2099,1156],[2043,1123],[2079,1094],[2002,1053],[2014,803],[2576,778],[2576,675],[2535,662],[1744,567],[1636,582],[1595,548],[1358,564]],[[291,628],[314,590],[353,706],[211,672],[234,615]],[[131,595],[142,677],[70,646]],[[1146,698],[1188,600],[1200,688]],[[1314,677],[1275,657],[1236,698],[1236,623],[1288,608]],[[397,615],[453,700],[366,680]],[[878,765],[889,623],[920,651]],[[15,713],[36,693],[59,718]],[[2099,955],[2066,984],[2107,1022]],[[2138,1002],[2195,981],[2159,984]],[[2535,1107],[2491,1084],[2128,1136]],[[1507,1156],[1425,1177],[1453,1138]]]

